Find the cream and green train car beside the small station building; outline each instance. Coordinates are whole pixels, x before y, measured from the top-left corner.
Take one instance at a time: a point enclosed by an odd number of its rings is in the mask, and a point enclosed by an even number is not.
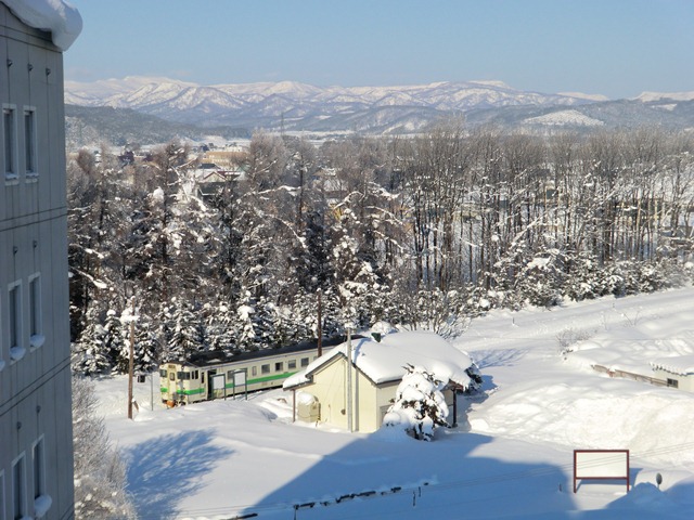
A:
[[[323,342],[323,352],[345,341]],[[318,358],[316,341],[256,352],[202,352],[159,365],[162,402],[167,406],[281,387]]]

